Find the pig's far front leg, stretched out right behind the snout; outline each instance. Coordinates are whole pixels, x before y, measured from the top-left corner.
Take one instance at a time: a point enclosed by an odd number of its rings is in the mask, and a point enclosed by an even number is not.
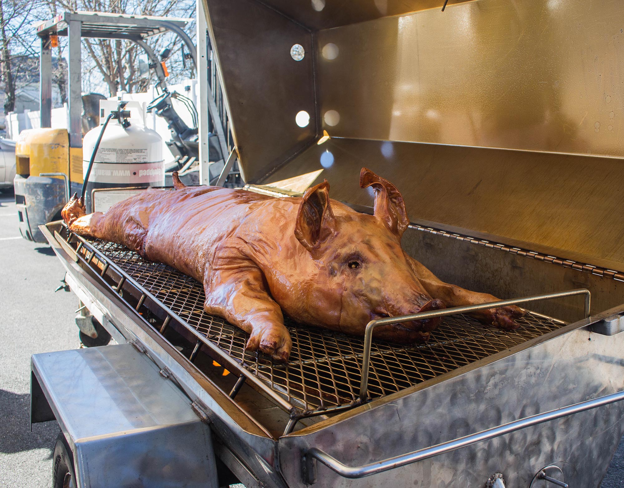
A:
[[[406,258],[412,271],[414,271],[414,274],[427,293],[429,293],[432,298],[439,298],[444,301],[449,308],[464,305],[477,305],[479,303],[500,300],[494,295],[489,295],[489,293],[477,293],[476,291],[464,290],[464,288],[460,286],[444,283],[444,281],[437,278],[436,275],[411,256],[406,254]],[[501,329],[517,329],[519,324],[515,319],[522,317],[524,311],[517,306],[511,305],[479,310],[469,315],[485,324],[491,324]]]

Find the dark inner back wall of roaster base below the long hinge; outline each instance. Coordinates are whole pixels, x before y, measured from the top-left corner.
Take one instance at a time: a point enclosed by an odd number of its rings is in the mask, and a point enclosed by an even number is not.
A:
[[[587,288],[594,310],[620,305],[624,296],[624,273],[492,240],[411,225],[402,245],[447,283],[468,290],[490,290],[494,296],[550,293],[556,291],[555,286],[560,290]],[[456,259],[447,259],[449,255]],[[568,322],[583,317],[578,300],[536,302],[532,310]]]

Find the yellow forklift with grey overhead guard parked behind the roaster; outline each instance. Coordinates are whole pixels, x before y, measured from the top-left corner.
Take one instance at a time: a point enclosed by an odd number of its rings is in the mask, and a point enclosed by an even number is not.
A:
[[[82,187],[83,154],[82,137],[92,127],[99,125],[99,108],[83,110],[84,98],[81,93],[80,41],[82,37],[124,39],[139,44],[149,59],[148,69],[157,75],[160,97],[151,104],[155,112],[169,122],[172,130],[170,149],[177,155],[180,166],[190,166],[203,158],[198,154],[198,128],[189,128],[175,113],[172,98],[181,97],[170,93],[165,84],[165,64],[168,56],[157,58],[145,42],[147,37],[175,32],[185,46],[189,57],[197,66],[197,50],[184,31],[189,19],[171,17],[129,16],[99,12],[64,12],[36,27],[41,41],[40,54],[40,108],[41,129],[23,130],[16,143],[16,177],[14,179],[15,199],[22,237],[35,242],[46,242],[38,226],[61,218],[61,209],[69,195],[80,192]],[[52,47],[56,47],[59,36],[68,37],[69,51],[69,129],[53,129],[52,122]],[[168,50],[166,50],[168,51]],[[91,100],[92,106],[98,100]],[[212,107],[211,107],[212,108]],[[211,119],[218,120],[217,110],[210,110]],[[213,145],[226,154],[227,145],[222,124],[215,127],[218,144]],[[208,127],[210,130],[211,127]],[[208,132],[208,130],[206,132]],[[212,141],[210,141],[212,143]],[[90,155],[84,155],[89,160]],[[208,159],[208,154],[205,155]],[[215,160],[215,159],[212,159]],[[180,169],[177,167],[175,169]],[[119,185],[124,186],[124,185]]]

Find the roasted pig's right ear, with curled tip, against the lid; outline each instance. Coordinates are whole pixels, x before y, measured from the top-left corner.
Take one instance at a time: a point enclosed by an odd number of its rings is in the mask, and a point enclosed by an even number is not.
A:
[[[401,237],[409,225],[409,219],[399,190],[388,180],[384,180],[367,168],[362,168],[359,172],[359,186],[361,188],[373,187],[375,217],[380,218],[391,232]]]

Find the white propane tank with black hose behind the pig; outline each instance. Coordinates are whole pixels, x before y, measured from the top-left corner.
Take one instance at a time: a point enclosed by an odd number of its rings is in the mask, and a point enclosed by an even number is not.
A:
[[[119,100],[100,100],[100,126],[89,130],[82,140],[82,177],[87,174],[95,143],[102,124]],[[165,185],[165,161],[162,138],[155,130],[145,127],[145,103],[127,102],[123,110],[130,111],[130,126],[124,128],[119,120],[110,119],[104,130],[87,182],[85,205],[91,212],[94,188],[162,187]]]

